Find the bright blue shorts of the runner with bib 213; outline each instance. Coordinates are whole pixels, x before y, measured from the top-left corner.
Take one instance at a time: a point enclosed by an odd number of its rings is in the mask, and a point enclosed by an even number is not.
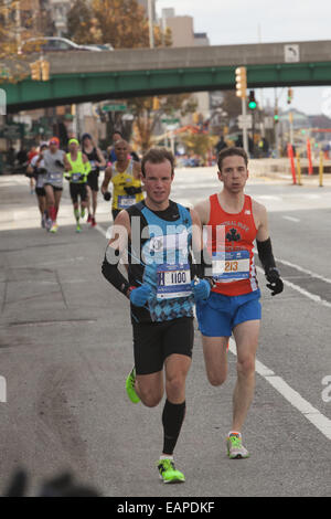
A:
[[[231,337],[236,325],[261,318],[260,290],[242,296],[224,296],[211,292],[206,300],[196,303],[199,329],[206,337]]]

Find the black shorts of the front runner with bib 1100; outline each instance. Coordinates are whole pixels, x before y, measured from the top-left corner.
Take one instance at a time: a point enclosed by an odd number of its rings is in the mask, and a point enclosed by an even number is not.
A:
[[[137,374],[161,371],[167,357],[173,353],[192,357],[193,317],[180,317],[164,322],[135,322],[132,326]]]

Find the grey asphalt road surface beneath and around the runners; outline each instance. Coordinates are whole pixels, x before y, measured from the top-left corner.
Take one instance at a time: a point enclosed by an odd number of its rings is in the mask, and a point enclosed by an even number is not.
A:
[[[195,203],[217,189],[211,169],[179,171],[173,199]],[[24,467],[30,495],[70,469],[104,496],[330,496],[331,184],[253,177],[247,192],[269,211],[286,283],[271,297],[259,272],[256,395],[244,430],[252,457],[225,453],[234,345],[228,380],[212,388],[196,331],[175,456],[186,483],[169,487],[154,468],[162,406],[134,405],[125,392],[128,304],[100,274],[109,206],[100,201],[98,227],[76,235],[66,191],[60,231],[50,235],[26,179],[0,177],[0,494]]]

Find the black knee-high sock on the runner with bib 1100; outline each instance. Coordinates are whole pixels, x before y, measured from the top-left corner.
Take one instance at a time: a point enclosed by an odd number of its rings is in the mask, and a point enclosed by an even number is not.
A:
[[[185,417],[186,402],[172,404],[166,400],[162,413],[164,431],[163,454],[172,455]]]

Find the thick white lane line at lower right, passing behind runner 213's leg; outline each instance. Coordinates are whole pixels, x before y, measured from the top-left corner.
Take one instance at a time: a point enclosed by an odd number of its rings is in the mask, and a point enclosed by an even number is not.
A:
[[[234,339],[229,339],[229,351],[236,356],[236,345]],[[296,390],[293,390],[281,377],[278,377],[256,360],[256,372],[261,375],[274,389],[280,393],[293,407],[296,407],[309,422],[311,422],[328,439],[331,439],[331,420],[324,416],[318,409],[313,407]]]

